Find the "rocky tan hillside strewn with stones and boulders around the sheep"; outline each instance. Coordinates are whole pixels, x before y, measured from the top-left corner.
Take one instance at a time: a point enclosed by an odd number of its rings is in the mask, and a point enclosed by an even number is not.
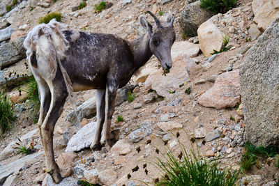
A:
[[[238,0],[236,8],[216,15],[193,0],[111,0],[101,13],[94,10],[99,2],[90,0],[81,9],[82,1],[13,2],[0,3],[0,86],[17,116],[1,139],[0,185],[54,185],[44,173],[43,145],[28,95],[19,91],[31,78],[22,42],[39,18],[50,12],[60,12],[68,29],[133,40],[144,34],[140,15],[153,22],[146,10],[160,20],[169,10],[178,10],[173,67],[162,75],[153,56],[119,89],[110,150],[89,149],[96,125],[95,91],[75,93],[81,123],[67,100],[54,130],[56,162],[67,177],[60,185],[77,185],[77,180],[99,185],[153,183],[161,176],[150,162],[163,158],[167,149],[179,155],[181,144],[188,152],[198,148],[206,160],[218,160],[221,168],[232,170],[241,168],[245,142],[278,146],[277,1]],[[7,5],[12,8],[8,13]],[[133,95],[135,99],[128,101]],[[33,143],[35,153],[17,153],[18,138],[22,146]],[[276,162],[276,157],[257,162],[240,174],[238,184],[275,185]]]

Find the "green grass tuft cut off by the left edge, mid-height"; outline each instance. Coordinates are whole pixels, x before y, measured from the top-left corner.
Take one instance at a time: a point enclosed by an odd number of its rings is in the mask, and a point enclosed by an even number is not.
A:
[[[10,129],[10,124],[15,121],[13,107],[7,96],[0,92],[0,137],[3,132]]]

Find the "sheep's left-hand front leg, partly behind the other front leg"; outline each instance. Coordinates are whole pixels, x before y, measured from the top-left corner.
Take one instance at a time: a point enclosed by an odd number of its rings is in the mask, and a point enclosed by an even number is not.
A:
[[[102,134],[103,123],[105,121],[105,90],[96,91],[96,106],[97,106],[97,126],[95,138],[92,141],[90,148],[92,150],[100,150],[100,136]]]

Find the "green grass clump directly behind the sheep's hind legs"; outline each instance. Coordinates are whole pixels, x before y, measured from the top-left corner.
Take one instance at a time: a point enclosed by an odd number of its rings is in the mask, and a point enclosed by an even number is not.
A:
[[[29,79],[26,87],[22,88],[22,91],[27,92],[28,95],[28,104],[31,106],[31,117],[33,118],[33,122],[38,122],[39,111],[40,111],[40,98],[38,93],[38,85],[34,77]]]

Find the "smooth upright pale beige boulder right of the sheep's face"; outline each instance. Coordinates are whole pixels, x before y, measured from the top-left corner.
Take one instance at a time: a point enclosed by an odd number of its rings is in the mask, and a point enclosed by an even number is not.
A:
[[[219,51],[223,46],[223,33],[211,21],[204,22],[197,29],[199,48],[204,56],[209,57],[213,49]]]

